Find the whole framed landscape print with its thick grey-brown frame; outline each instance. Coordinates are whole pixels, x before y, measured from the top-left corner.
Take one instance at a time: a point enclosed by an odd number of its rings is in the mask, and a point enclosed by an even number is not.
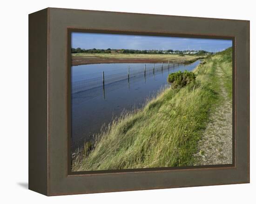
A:
[[[29,189],[249,182],[249,21],[29,14]]]

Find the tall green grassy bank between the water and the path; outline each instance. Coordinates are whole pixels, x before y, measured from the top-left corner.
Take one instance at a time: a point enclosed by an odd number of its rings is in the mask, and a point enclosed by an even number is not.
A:
[[[228,63],[227,55],[205,58],[195,70],[195,84],[165,89],[144,108],[113,121],[98,135],[92,150],[85,145],[83,154],[73,160],[72,170],[193,165],[209,110],[220,102],[216,66]]]

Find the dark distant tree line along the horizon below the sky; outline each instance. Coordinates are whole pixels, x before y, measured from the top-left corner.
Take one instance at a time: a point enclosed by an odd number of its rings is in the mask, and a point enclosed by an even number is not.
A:
[[[204,55],[207,54],[207,51],[179,51],[179,50],[131,50],[131,49],[81,49],[78,48],[71,48],[71,53],[127,53],[127,54],[189,54],[193,53],[196,55]]]

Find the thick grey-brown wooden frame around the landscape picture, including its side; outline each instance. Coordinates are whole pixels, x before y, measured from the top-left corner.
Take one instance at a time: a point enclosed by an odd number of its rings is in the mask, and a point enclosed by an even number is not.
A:
[[[233,164],[70,171],[70,32],[233,40]],[[249,21],[46,8],[29,14],[29,189],[47,196],[249,183]]]

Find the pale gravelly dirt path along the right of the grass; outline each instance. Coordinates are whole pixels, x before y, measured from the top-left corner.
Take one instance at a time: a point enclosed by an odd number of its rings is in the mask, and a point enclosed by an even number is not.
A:
[[[221,85],[221,104],[210,113],[209,124],[199,141],[199,152],[194,155],[195,165],[232,164],[232,100],[224,88],[218,64],[216,73]]]

